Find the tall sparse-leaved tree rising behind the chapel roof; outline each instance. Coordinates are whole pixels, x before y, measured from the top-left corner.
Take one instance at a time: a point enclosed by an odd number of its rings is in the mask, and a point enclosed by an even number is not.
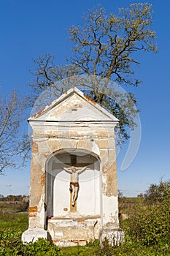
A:
[[[151,24],[152,5],[147,3],[131,4],[117,15],[107,14],[103,7],[89,10],[83,26],[69,30],[73,54],[66,66],[56,65],[50,53],[34,60],[36,80],[30,84],[34,95],[30,98],[35,99],[45,89],[58,97],[68,86],[81,85],[86,94],[119,118],[118,133],[125,142],[128,128],[136,126],[136,99],[131,93],[115,91],[112,82],[139,85],[134,77],[134,67],[139,66],[135,53],[157,51]],[[58,80],[61,83],[56,83]]]

